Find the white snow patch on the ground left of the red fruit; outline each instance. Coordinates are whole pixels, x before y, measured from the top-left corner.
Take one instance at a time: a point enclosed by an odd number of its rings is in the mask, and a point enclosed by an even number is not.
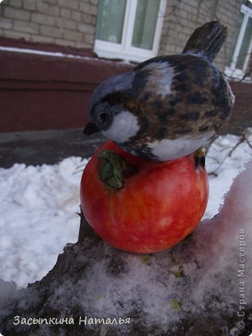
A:
[[[18,286],[41,279],[78,238],[79,184],[87,160],[0,169],[0,278]]]

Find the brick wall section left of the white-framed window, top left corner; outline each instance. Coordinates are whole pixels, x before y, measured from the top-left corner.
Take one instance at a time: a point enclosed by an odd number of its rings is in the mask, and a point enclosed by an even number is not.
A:
[[[98,0],[3,0],[0,36],[92,48]]]

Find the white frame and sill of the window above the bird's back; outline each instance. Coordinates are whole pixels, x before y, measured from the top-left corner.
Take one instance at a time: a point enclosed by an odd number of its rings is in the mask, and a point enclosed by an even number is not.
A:
[[[152,50],[132,47],[131,42],[134,29],[134,18],[137,11],[137,0],[127,0],[123,22],[122,42],[111,43],[96,39],[94,42],[94,52],[99,57],[123,59],[125,61],[134,62],[143,62],[146,59],[158,55],[166,2],[167,0],[160,0]]]

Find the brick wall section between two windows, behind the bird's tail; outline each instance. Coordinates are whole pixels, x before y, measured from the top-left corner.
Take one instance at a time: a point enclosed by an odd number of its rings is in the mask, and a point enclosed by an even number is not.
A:
[[[167,0],[160,41],[160,55],[172,55],[183,50],[194,29],[205,22],[218,20],[228,27],[228,38],[214,63],[224,71],[242,0]]]

